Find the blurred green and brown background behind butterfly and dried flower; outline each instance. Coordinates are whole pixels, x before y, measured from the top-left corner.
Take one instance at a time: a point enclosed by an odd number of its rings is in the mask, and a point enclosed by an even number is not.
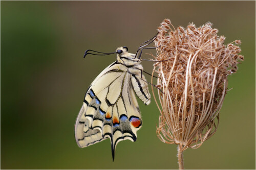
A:
[[[176,145],[156,136],[154,101],[139,101],[138,140],[120,142],[114,162],[109,139],[80,149],[73,134],[84,92],[116,60],[84,51],[135,53],[164,18],[175,27],[210,21],[226,44],[242,40],[245,57],[229,77],[217,133],[184,152],[185,168],[255,169],[255,1],[1,1],[1,168],[178,168]]]

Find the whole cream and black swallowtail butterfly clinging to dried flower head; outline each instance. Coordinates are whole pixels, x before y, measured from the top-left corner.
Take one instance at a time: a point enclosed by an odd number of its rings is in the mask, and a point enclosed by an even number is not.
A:
[[[84,95],[74,129],[75,139],[80,148],[110,138],[114,161],[119,141],[136,141],[142,119],[135,94],[145,105],[151,103],[148,82],[142,74],[143,67],[140,64],[145,59],[140,57],[143,49],[155,48],[145,46],[152,43],[156,36],[142,43],[136,54],[128,53],[126,46],[118,47],[113,53],[86,51],[84,57],[88,54],[117,54],[117,60],[97,76]]]

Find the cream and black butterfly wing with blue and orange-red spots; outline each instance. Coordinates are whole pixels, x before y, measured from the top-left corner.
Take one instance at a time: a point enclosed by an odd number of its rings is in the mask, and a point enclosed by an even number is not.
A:
[[[119,141],[136,141],[142,120],[127,67],[114,62],[93,81],[75,124],[80,148],[111,140],[114,160]]]

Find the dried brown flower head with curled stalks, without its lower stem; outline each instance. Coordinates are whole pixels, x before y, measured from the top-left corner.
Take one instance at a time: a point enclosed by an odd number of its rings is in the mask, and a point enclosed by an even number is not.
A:
[[[180,151],[198,148],[217,130],[219,111],[227,91],[227,76],[236,72],[244,57],[240,40],[227,46],[210,22],[197,28],[175,29],[169,19],[158,28],[155,40],[161,108],[157,135],[165,143],[179,144]],[[155,94],[153,93],[155,96]]]

